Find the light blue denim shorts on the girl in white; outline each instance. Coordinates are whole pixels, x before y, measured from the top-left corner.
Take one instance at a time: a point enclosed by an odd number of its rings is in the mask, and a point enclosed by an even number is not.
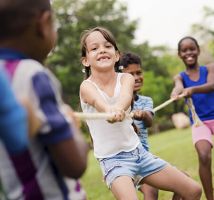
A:
[[[119,176],[129,176],[138,182],[144,177],[162,170],[168,163],[150,152],[142,144],[129,152],[120,152],[109,158],[98,159],[106,184],[111,188],[112,182]],[[141,177],[139,179],[139,176]]]

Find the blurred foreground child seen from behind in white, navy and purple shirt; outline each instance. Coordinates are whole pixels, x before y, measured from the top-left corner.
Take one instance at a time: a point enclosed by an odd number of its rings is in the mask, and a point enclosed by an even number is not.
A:
[[[16,97],[31,102],[41,121],[37,137],[19,156],[11,156],[0,143],[4,192],[7,199],[71,199],[64,176],[84,173],[88,147],[72,111],[65,114],[58,81],[41,64],[56,40],[50,2],[1,0],[0,16],[2,66]]]

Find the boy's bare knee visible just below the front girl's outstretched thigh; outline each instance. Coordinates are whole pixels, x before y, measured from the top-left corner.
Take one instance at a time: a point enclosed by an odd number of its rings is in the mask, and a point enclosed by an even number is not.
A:
[[[144,183],[139,190],[143,193],[144,200],[158,200],[157,188]]]

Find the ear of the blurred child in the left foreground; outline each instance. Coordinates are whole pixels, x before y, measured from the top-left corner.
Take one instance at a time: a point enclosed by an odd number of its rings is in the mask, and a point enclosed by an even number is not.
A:
[[[53,30],[51,11],[45,11],[38,17],[36,28],[40,37],[45,38],[50,36],[50,31]]]

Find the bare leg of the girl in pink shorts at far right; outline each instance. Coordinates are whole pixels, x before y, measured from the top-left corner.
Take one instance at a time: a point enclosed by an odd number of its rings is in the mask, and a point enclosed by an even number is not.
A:
[[[211,144],[206,140],[200,140],[195,145],[198,153],[199,175],[207,200],[214,200],[211,170]]]

